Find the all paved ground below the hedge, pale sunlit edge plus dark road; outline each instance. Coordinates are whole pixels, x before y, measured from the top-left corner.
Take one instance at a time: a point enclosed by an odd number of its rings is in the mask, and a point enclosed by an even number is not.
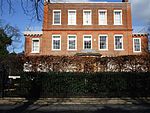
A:
[[[150,113],[149,98],[0,99],[0,113]]]

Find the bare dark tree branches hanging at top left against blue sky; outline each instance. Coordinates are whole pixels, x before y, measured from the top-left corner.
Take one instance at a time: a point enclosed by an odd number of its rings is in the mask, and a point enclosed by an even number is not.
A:
[[[15,11],[13,3],[14,3],[13,0],[1,0],[0,1],[1,15],[3,14],[4,10],[3,5],[6,5],[6,8],[8,8],[8,13],[12,14]],[[20,3],[21,8],[25,15],[30,16],[31,19],[37,19],[38,21],[42,20],[44,0],[20,0],[18,3]],[[15,2],[15,4],[17,4],[17,2]]]

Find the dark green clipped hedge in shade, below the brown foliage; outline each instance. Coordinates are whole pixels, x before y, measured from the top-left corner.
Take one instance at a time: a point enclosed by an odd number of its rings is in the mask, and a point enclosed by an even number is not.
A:
[[[22,73],[14,82],[6,96],[150,97],[150,73]]]

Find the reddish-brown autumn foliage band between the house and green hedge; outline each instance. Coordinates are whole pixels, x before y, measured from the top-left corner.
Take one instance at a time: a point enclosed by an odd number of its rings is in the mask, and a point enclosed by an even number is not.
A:
[[[150,54],[118,57],[23,57],[24,71],[40,72],[149,72]]]

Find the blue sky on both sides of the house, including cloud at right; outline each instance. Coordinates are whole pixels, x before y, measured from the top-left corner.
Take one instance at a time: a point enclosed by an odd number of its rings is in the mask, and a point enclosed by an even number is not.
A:
[[[21,32],[26,27],[42,27],[42,21],[31,19],[31,16],[24,14],[21,8],[21,0],[12,0],[14,12],[9,14],[7,5],[3,6],[3,13],[0,12],[0,19],[5,24],[9,23],[12,26],[17,26]],[[121,2],[122,0],[67,0],[67,1],[108,1],[108,2]],[[132,5],[132,23],[133,26],[147,26],[150,23],[150,0],[130,0]],[[22,45],[24,44],[24,37],[22,36]],[[20,46],[17,52],[23,50]]]

